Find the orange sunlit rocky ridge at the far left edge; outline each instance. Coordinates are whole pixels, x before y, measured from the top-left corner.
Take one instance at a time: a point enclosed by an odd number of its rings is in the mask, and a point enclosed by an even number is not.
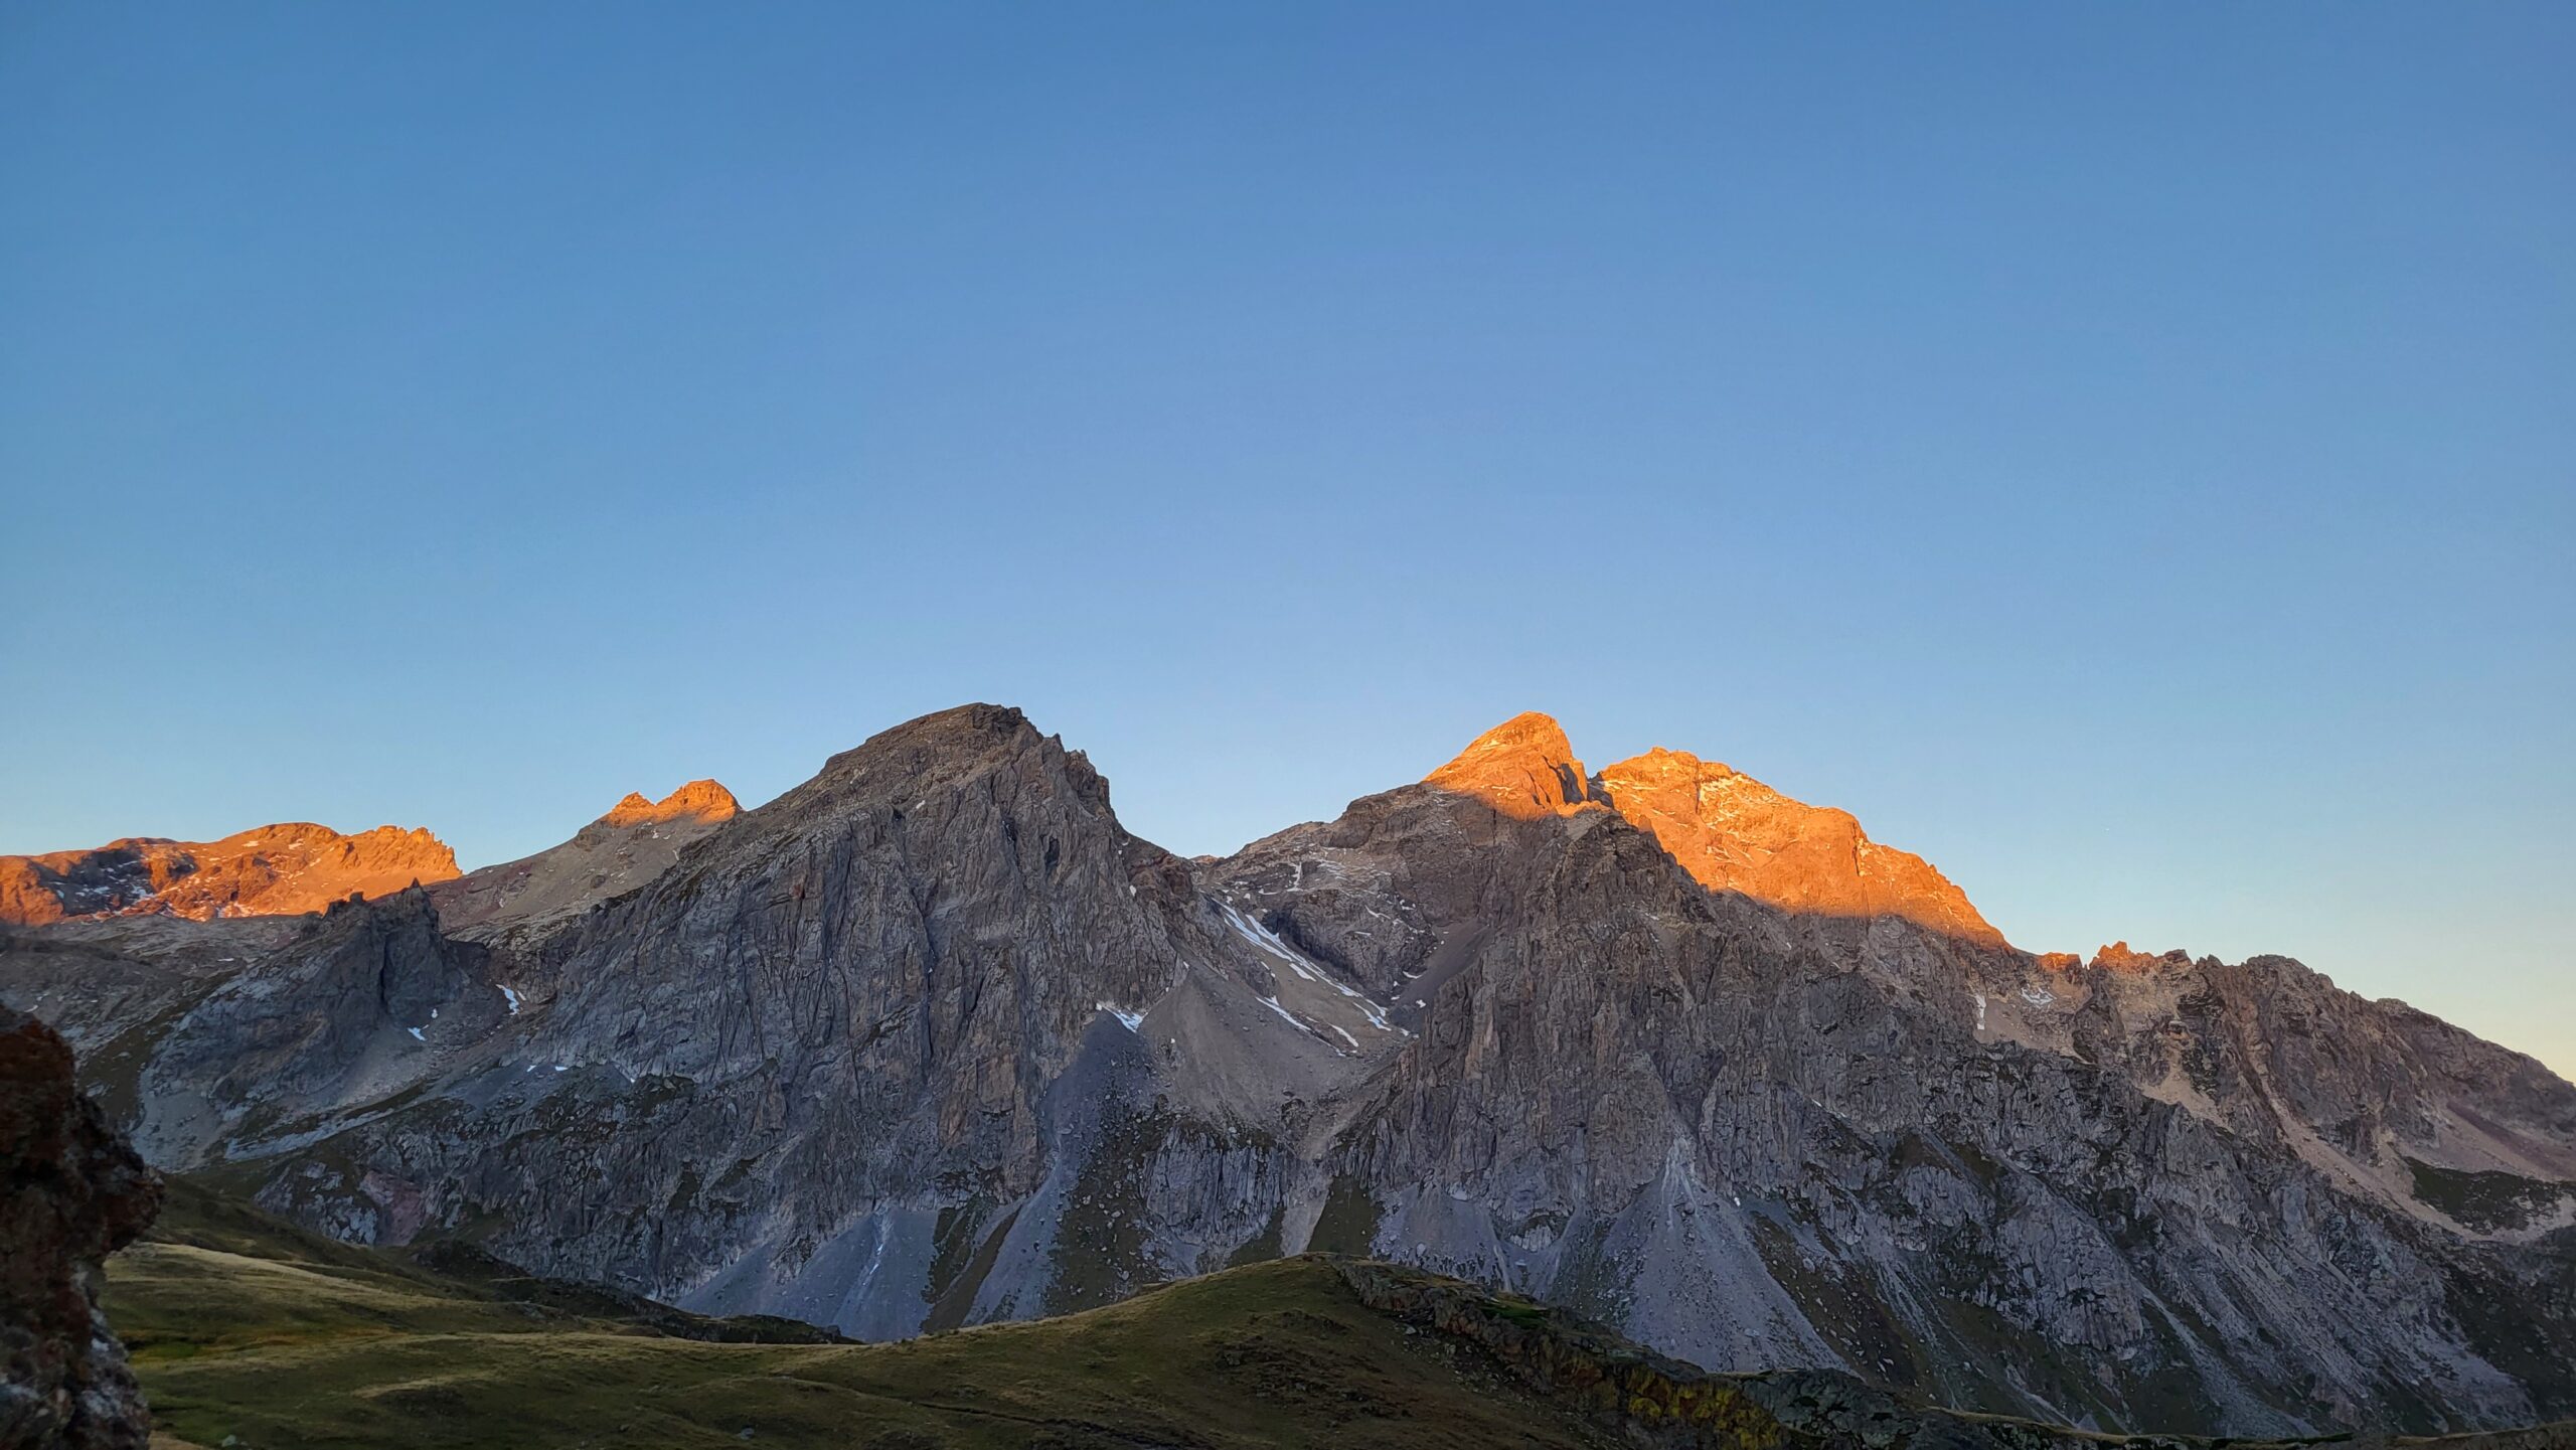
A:
[[[0,855],[0,922],[44,925],[157,912],[291,917],[353,891],[386,896],[456,876],[456,852],[425,829],[376,827],[340,834],[286,822],[216,842],[134,837],[98,850]]]

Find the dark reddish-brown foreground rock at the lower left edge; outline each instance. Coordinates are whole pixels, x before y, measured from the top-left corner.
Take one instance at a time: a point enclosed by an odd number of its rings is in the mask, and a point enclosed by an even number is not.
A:
[[[160,1208],[160,1180],[82,1097],[72,1048],[0,1007],[0,1445],[142,1450],[100,1262]]]

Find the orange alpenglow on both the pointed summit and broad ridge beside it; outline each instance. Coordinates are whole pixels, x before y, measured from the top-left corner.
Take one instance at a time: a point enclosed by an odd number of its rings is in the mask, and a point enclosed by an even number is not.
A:
[[[1873,842],[1850,811],[1793,801],[1682,749],[1649,749],[1584,778],[1566,731],[1530,711],[1476,737],[1425,783],[1512,819],[1618,811],[1710,891],[1801,914],[1901,917],[1976,945],[2007,945],[1947,876]]]

